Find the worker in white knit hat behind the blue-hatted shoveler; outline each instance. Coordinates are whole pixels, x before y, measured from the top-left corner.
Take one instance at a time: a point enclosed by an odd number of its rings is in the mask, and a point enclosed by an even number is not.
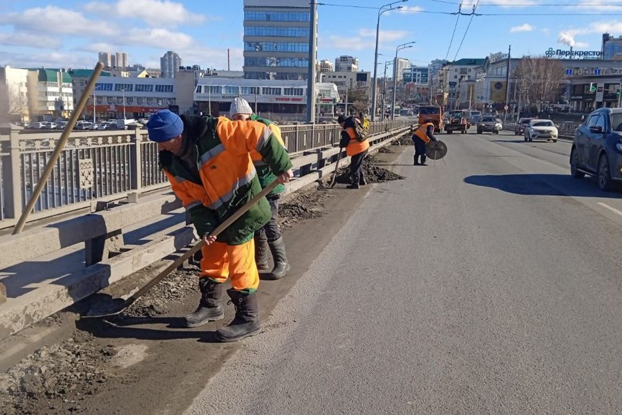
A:
[[[283,143],[283,138],[281,138],[281,129],[279,126],[270,120],[253,115],[253,110],[244,98],[236,98],[233,100],[229,108],[229,118],[235,121],[252,120],[265,124],[270,128],[270,131],[272,131],[274,138],[276,138],[283,149],[285,149],[285,143]],[[261,188],[263,189],[272,183],[276,176],[272,172],[272,169],[270,169],[270,166],[265,163],[261,154],[257,151],[251,151],[251,159],[257,170],[259,184],[261,184]],[[274,187],[274,190],[266,196],[268,203],[270,203],[270,212],[272,212],[272,216],[270,217],[270,221],[268,221],[263,228],[255,232],[255,261],[257,262],[257,268],[260,272],[270,270],[270,266],[268,266],[268,251],[270,250],[270,252],[272,252],[272,259],[274,260],[274,268],[272,268],[272,273],[270,273],[272,279],[285,277],[290,270],[281,227],[279,223],[276,222],[279,218],[279,200],[281,199],[281,194],[284,192],[285,185],[280,184]]]

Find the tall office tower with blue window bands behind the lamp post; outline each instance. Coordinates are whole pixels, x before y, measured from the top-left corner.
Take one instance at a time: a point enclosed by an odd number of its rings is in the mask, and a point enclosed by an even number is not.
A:
[[[310,21],[309,0],[244,0],[244,77],[306,80]]]

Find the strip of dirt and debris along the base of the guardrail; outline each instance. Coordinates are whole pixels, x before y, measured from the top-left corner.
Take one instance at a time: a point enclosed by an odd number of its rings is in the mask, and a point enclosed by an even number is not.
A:
[[[364,172],[370,183],[402,178],[377,165],[390,163],[390,159],[397,157],[391,154],[393,152],[384,151],[381,158],[366,158]],[[301,240],[299,246],[292,246],[292,257],[319,254],[315,251],[321,250],[321,246],[330,239],[327,229],[336,231],[348,217],[348,210],[355,208],[364,197],[364,192],[355,192],[345,199],[333,198],[334,194],[309,189],[281,203],[279,223],[285,230],[285,238]],[[331,214],[328,219],[323,219],[323,226],[330,223],[329,228],[302,223],[318,220],[328,212]],[[301,225],[293,228],[299,223]],[[305,238],[314,241],[317,246],[309,248]],[[305,261],[302,258],[295,261],[292,273],[300,275],[303,270],[296,268],[303,267]],[[6,373],[0,374],[0,414],[153,413],[153,407],[147,407],[162,405],[162,396],[152,397],[149,403],[144,402],[144,396],[158,391],[158,388],[166,389],[163,385],[169,385],[169,389],[175,385],[174,389],[178,390],[176,399],[182,403],[189,402],[194,389],[201,389],[201,382],[209,378],[211,371],[218,369],[218,362],[225,360],[239,347],[238,344],[226,347],[216,344],[207,348],[209,344],[205,343],[211,342],[210,333],[213,333],[209,330],[214,329],[211,326],[208,326],[208,331],[179,330],[182,327],[178,316],[191,312],[191,308],[196,306],[198,273],[200,269],[196,266],[176,270],[121,315],[109,320],[111,324],[102,321],[77,324],[71,338],[37,349]],[[294,283],[292,275],[288,281],[272,286],[272,293],[271,287],[266,286],[259,293],[262,307],[274,304]],[[223,325],[232,317],[230,308],[227,308]],[[59,324],[61,320],[52,316],[40,324],[49,326]],[[192,361],[191,353],[198,347],[211,353],[209,356],[216,359],[216,363],[209,359],[200,363],[196,359]],[[151,358],[147,359],[147,356]],[[142,365],[136,365],[141,361]],[[151,376],[155,376],[154,380],[149,380]],[[158,378],[162,385],[153,384],[158,382]],[[128,394],[137,396],[136,401],[129,402],[131,398]],[[179,405],[180,402],[167,403],[167,408],[172,408],[169,413],[180,413]]]

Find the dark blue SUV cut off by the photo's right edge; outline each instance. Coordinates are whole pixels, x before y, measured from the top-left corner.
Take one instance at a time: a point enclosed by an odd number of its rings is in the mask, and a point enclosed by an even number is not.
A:
[[[622,109],[601,108],[576,129],[570,150],[570,174],[596,176],[601,190],[622,183]]]

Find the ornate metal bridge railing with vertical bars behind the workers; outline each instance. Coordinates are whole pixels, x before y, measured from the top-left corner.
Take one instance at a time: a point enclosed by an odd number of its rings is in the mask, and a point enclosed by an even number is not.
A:
[[[370,136],[406,125],[374,122]],[[339,124],[281,126],[290,154],[335,145]],[[61,132],[0,136],[0,221],[17,219],[37,185]],[[148,192],[169,185],[160,171],[158,147],[145,129],[74,131],[35,203],[32,220],[122,199],[128,192]]]

